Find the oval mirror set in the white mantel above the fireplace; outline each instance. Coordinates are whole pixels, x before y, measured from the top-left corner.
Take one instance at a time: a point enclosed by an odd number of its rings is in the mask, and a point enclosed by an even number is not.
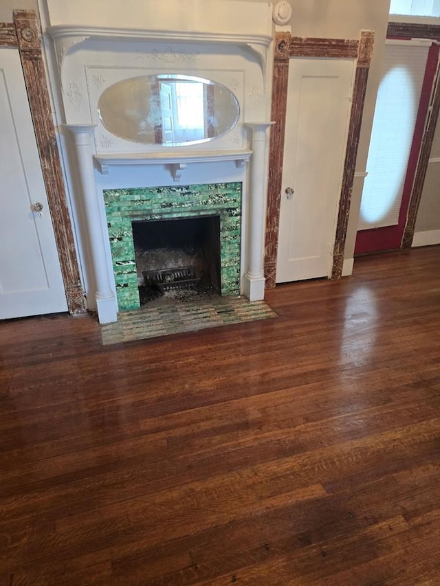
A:
[[[233,128],[239,102],[223,85],[163,74],[120,81],[100,96],[102,124],[114,135],[144,144],[206,142]]]

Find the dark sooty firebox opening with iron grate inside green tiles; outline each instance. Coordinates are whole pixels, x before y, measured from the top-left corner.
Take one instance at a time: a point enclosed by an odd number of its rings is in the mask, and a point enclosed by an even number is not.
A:
[[[220,218],[133,221],[140,304],[221,295]]]

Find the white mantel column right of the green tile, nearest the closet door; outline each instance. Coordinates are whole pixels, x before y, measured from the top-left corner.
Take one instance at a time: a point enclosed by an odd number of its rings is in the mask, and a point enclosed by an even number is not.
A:
[[[244,293],[250,301],[264,299],[265,278],[263,267],[265,236],[266,142],[267,128],[274,122],[246,122],[252,128],[252,159],[250,181],[250,223],[248,230],[248,272],[245,275]]]

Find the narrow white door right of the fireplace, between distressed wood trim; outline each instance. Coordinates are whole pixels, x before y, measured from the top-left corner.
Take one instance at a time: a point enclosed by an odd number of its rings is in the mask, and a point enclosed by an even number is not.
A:
[[[276,282],[329,276],[353,60],[290,59]]]

